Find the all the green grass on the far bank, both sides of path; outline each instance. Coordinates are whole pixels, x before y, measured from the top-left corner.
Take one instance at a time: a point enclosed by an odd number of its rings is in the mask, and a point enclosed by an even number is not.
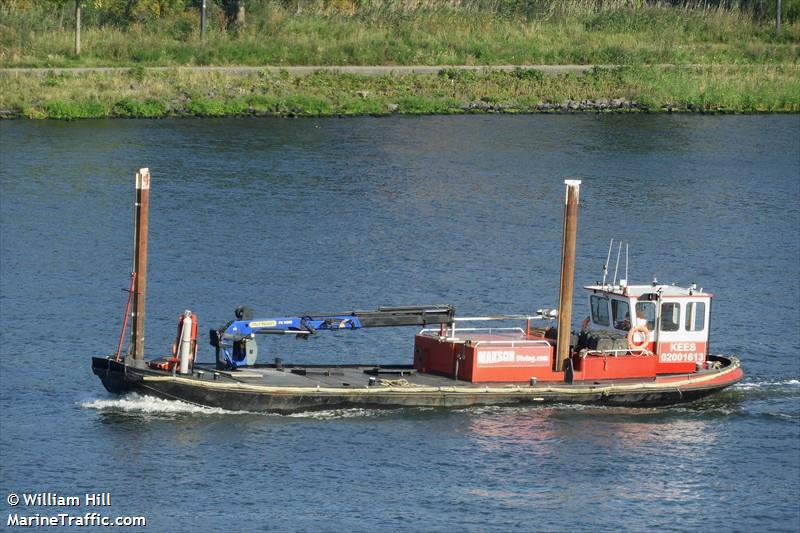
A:
[[[694,2],[694,0],[686,0]],[[0,117],[327,116],[527,113],[564,107],[800,111],[800,0],[685,4],[624,0],[249,0],[224,29],[210,2],[201,40],[188,0],[161,15],[85,2],[72,53],[70,2],[0,0],[0,67],[121,66],[116,73],[0,75]],[[117,6],[112,8],[109,6]],[[171,6],[171,7],[169,7]],[[114,9],[117,9],[116,11]],[[184,65],[441,65],[439,75],[308,77],[154,72]],[[469,72],[448,65],[622,65],[586,74]],[[675,68],[656,65],[675,64]],[[565,103],[569,105],[565,105]]]

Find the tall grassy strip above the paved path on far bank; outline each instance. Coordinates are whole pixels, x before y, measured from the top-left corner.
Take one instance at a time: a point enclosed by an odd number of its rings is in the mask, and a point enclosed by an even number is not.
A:
[[[780,35],[773,3],[249,0],[245,26],[228,32],[209,2],[201,40],[188,1],[125,18],[102,7],[112,1],[85,2],[76,57],[71,2],[6,0],[0,66],[796,64],[800,0],[783,1]]]

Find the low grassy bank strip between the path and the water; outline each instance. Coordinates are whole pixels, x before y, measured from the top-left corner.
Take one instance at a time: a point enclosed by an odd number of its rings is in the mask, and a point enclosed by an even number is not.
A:
[[[800,68],[599,69],[544,75],[455,71],[359,76],[324,71],[220,72],[134,68],[122,73],[0,76],[5,117],[103,118],[328,116],[392,113],[617,111],[800,111]]]

